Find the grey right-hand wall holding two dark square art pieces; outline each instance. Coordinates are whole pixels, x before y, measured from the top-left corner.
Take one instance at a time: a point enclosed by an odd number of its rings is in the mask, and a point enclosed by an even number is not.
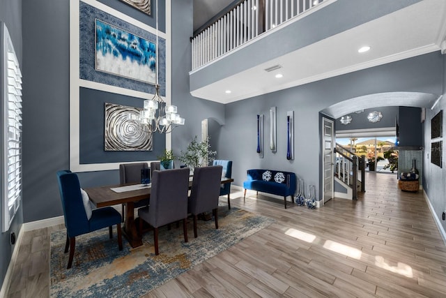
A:
[[[426,192],[427,197],[429,198],[429,202],[434,209],[434,213],[438,223],[443,227],[443,236],[446,237],[446,221],[443,221],[442,213],[446,211],[446,163],[445,163],[445,133],[446,133],[446,124],[445,124],[445,110],[446,110],[446,56],[443,55],[443,61],[440,65],[443,67],[443,75],[441,77],[443,82],[443,98],[438,102],[436,107],[431,109],[426,109],[426,120],[424,121],[424,152],[423,152],[423,172],[424,172],[424,180],[423,180],[423,188]],[[431,139],[431,119],[438,113],[440,110],[443,110],[443,137],[438,137],[434,139],[435,141],[443,141],[443,157],[442,157],[442,165],[443,167],[438,167],[438,165],[434,165],[431,163],[431,143],[433,140]]]

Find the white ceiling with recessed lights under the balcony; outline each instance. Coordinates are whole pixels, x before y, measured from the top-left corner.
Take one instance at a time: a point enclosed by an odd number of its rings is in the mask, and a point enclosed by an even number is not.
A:
[[[196,7],[198,7],[197,10],[206,10],[208,13],[215,10],[220,11],[220,8],[211,5],[215,2],[226,7],[233,1],[226,0],[220,3],[220,0],[194,0],[194,15]],[[208,16],[201,17],[200,21],[197,20],[198,27],[201,26],[199,23],[203,22],[203,18],[210,18]],[[195,22],[196,20],[194,20],[194,26]],[[280,26],[273,30],[279,29]],[[442,43],[443,50],[446,50],[445,36],[446,1],[424,0],[330,38],[325,38],[295,52],[272,59],[265,64],[192,90],[191,94],[219,103],[231,103],[351,73],[355,70],[435,52],[441,50]],[[250,43],[255,43],[255,40]],[[369,45],[371,50],[362,54],[358,53],[358,48],[364,44]],[[291,67],[295,65],[295,61],[300,61],[302,67]],[[311,65],[309,61],[311,61]],[[273,76],[275,72],[267,73],[264,70],[276,64],[283,66],[279,70],[283,75],[280,79]],[[305,67],[306,64],[308,64],[307,67]],[[224,92],[228,86],[231,86],[231,94]],[[438,95],[432,96],[432,98],[436,97]],[[424,101],[422,102],[422,100]],[[419,98],[415,96],[412,101],[414,106],[432,104],[432,99],[426,103],[426,96],[422,94]],[[433,101],[435,100],[433,99]]]

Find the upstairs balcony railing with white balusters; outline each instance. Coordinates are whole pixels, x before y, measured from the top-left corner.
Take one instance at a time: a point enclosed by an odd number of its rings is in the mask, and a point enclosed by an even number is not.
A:
[[[192,38],[192,70],[327,0],[245,0]]]

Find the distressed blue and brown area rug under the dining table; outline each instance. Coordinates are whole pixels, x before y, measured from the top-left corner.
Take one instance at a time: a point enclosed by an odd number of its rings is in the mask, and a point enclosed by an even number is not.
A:
[[[218,214],[218,230],[213,220],[198,221],[197,238],[190,220],[188,243],[184,242],[183,224],[179,228],[172,225],[171,230],[160,228],[160,255],[155,255],[153,232],[144,234],[138,248],[131,248],[123,238],[123,251],[118,250],[116,226],[113,239],[109,239],[108,228],[76,237],[71,269],[66,269],[68,253],[63,253],[66,230],[52,232],[50,295],[140,297],[274,221],[234,207],[220,207]]]

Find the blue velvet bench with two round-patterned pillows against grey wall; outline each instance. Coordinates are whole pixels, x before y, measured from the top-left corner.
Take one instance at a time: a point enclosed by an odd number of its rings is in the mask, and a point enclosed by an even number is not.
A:
[[[284,204],[286,209],[286,197],[291,196],[291,202],[296,189],[296,178],[293,172],[283,172],[276,170],[261,170],[253,169],[247,170],[247,181],[243,182],[245,200],[247,189],[252,191],[259,191],[262,193],[271,193],[273,195],[280,195],[284,197]]]

